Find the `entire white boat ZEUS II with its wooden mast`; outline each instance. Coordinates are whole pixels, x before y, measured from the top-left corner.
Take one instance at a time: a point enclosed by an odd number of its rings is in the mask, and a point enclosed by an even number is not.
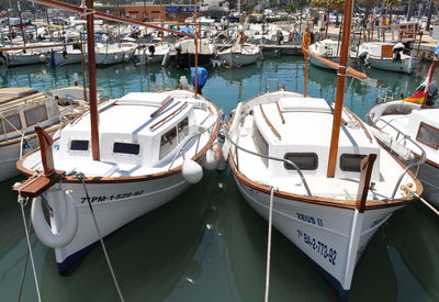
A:
[[[250,206],[297,246],[344,299],[373,234],[423,192],[403,163],[342,105],[346,77],[367,78],[347,68],[351,11],[352,0],[347,0],[335,104],[308,97],[306,77],[304,93],[280,89],[254,97],[234,111],[223,148]],[[308,30],[304,36],[307,65]]]

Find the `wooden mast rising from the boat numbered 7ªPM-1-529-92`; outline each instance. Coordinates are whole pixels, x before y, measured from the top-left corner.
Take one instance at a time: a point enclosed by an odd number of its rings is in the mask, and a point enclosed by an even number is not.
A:
[[[87,56],[89,67],[89,93],[90,93],[90,124],[91,124],[91,153],[93,160],[100,160],[99,147],[99,116],[98,116],[98,92],[95,80],[95,55],[94,55],[94,18],[93,0],[87,0]]]

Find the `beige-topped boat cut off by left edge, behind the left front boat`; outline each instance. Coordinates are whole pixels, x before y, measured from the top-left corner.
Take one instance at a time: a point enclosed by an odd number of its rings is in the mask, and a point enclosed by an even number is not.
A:
[[[67,87],[47,92],[33,88],[0,89],[0,181],[18,176],[16,160],[37,147],[35,126],[54,134],[65,120],[58,101],[71,103],[83,99],[82,89]],[[61,108],[70,118],[80,113],[81,107],[66,104]]]

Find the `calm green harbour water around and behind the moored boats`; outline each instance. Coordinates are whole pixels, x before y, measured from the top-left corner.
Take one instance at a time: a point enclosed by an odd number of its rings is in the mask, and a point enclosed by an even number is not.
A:
[[[266,91],[267,86],[273,90],[278,85],[273,79],[289,90],[302,91],[303,68],[301,58],[284,57],[238,70],[210,70],[204,94],[228,113],[238,101]],[[81,72],[80,65],[0,69],[0,87],[63,87],[72,83],[75,72]],[[361,118],[374,104],[378,87],[409,94],[421,81],[417,75],[368,74],[378,80],[347,81],[345,103]],[[98,86],[102,98],[115,98],[131,91],[175,88],[181,75],[189,77],[189,71],[117,65],[98,69]],[[331,100],[335,83],[335,72],[309,68],[311,96]],[[26,256],[21,212],[10,190],[18,179],[0,183],[0,301],[16,301]],[[438,217],[423,204],[396,212],[360,259],[351,301],[439,301],[438,228]],[[267,230],[267,222],[247,205],[226,170],[206,172],[181,197],[123,227],[105,243],[125,301],[254,302],[263,301]],[[31,242],[43,301],[117,301],[100,247],[74,275],[60,277],[54,251],[35,235]],[[306,257],[277,231],[271,260],[270,301],[338,301]],[[21,301],[36,301],[30,265]]]

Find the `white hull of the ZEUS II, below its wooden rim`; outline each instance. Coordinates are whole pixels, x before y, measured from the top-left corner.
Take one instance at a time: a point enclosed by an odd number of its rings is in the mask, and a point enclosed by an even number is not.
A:
[[[268,220],[270,195],[235,180],[247,202]],[[322,268],[341,297],[350,290],[352,272],[369,241],[392,213],[402,206],[365,211],[357,250],[351,250],[354,210],[273,199],[273,226]],[[356,261],[348,265],[349,253]]]

